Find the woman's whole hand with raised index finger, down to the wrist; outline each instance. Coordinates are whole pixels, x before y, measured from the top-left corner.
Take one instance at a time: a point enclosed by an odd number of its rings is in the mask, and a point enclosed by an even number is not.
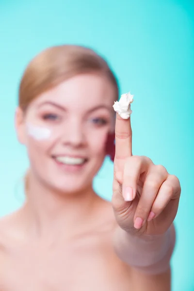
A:
[[[178,178],[149,158],[132,155],[130,118],[118,114],[115,146],[112,204],[118,225],[132,233],[164,233],[177,214]]]

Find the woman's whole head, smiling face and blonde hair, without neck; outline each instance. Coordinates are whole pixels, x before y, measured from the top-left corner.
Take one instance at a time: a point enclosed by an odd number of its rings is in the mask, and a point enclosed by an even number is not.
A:
[[[16,114],[34,175],[59,192],[92,184],[113,131],[117,97],[112,71],[90,49],[60,46],[35,57],[24,72]]]

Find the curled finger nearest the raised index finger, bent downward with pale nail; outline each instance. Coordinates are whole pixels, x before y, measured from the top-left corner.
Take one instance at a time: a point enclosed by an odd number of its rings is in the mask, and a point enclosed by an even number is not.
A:
[[[150,162],[148,158],[140,156],[132,156],[126,160],[122,187],[125,201],[132,201],[135,198],[140,175],[147,171]]]

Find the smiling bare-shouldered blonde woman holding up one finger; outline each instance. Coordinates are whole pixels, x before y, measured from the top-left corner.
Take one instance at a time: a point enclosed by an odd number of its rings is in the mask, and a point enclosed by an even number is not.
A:
[[[132,156],[117,98],[112,71],[90,49],[53,47],[28,65],[16,110],[26,202],[0,221],[0,290],[170,290],[179,181]],[[114,153],[110,203],[92,182]]]

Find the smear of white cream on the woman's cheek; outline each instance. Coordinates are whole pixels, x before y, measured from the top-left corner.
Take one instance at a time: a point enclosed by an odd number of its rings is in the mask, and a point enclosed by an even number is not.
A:
[[[27,132],[38,141],[48,139],[51,136],[50,129],[32,124],[27,125]]]

